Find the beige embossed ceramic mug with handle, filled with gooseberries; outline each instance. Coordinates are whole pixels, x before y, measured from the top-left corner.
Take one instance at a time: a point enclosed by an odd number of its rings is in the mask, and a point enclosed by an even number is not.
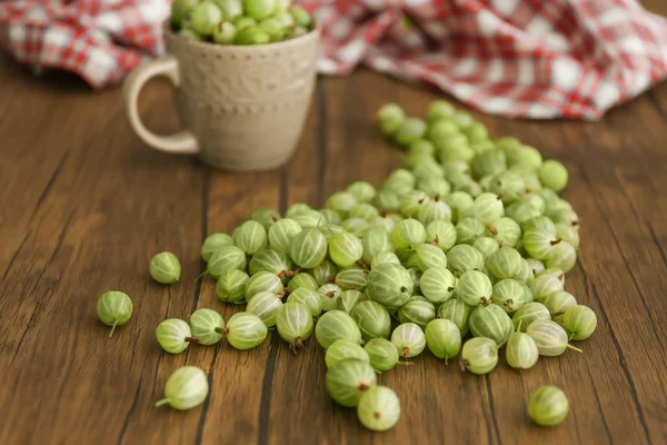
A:
[[[146,62],[123,85],[135,132],[150,147],[197,154],[226,170],[270,169],[293,154],[316,79],[319,31],[278,43],[242,47],[190,40],[165,24],[167,56]],[[160,136],[137,110],[143,85],[165,76],[176,88],[183,130]]]

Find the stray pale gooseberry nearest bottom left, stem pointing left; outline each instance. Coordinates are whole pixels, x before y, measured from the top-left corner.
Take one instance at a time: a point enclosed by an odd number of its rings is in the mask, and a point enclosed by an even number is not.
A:
[[[169,376],[165,385],[165,398],[156,406],[169,404],[175,409],[191,409],[203,403],[209,384],[206,373],[196,366],[183,366]]]

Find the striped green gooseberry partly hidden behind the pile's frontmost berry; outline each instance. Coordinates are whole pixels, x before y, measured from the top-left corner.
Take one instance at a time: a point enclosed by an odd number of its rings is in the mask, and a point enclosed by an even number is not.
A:
[[[375,386],[376,373],[368,362],[348,358],[327,369],[325,383],[329,396],[347,407],[357,406],[364,392]]]

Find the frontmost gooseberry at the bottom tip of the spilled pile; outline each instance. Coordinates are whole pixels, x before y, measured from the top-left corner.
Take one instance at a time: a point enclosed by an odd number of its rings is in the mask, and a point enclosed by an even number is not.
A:
[[[370,431],[391,429],[400,418],[400,400],[390,388],[375,385],[359,398],[357,417]]]

